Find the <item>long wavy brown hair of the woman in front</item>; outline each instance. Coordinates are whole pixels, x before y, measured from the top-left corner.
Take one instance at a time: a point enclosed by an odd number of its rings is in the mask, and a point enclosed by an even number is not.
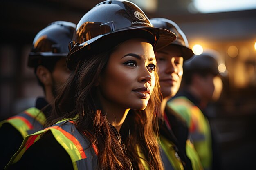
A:
[[[121,144],[119,134],[106,119],[97,98],[96,84],[106,68],[112,50],[92,55],[93,59],[81,59],[70,78],[59,91],[54,101],[50,123],[64,118],[74,118],[76,128],[98,149],[98,169],[130,170],[144,169],[139,160],[136,144],[143,152],[151,169],[162,170],[162,161],[153,126],[156,126],[156,112],[159,111],[159,80],[145,110],[130,110],[128,121],[135,126],[124,126]],[[157,74],[155,73],[156,77]],[[128,133],[128,131],[131,133]]]

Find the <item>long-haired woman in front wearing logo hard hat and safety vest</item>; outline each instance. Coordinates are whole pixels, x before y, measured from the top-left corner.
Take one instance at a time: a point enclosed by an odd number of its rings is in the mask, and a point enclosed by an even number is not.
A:
[[[162,170],[153,48],[175,38],[129,1],[97,4],[70,43],[73,73],[55,100],[58,123],[27,136],[6,169]],[[120,135],[126,117],[133,126]]]

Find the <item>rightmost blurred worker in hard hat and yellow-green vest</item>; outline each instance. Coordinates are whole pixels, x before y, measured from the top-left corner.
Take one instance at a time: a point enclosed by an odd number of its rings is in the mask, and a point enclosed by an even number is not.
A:
[[[204,115],[204,109],[213,99],[214,79],[219,74],[216,54],[213,51],[206,51],[186,61],[182,88],[168,102],[168,106],[186,121],[195,150],[205,170],[219,169],[219,155],[213,153],[213,150],[216,151],[216,148],[213,149],[215,142],[209,121]],[[214,159],[213,155],[216,155]]]

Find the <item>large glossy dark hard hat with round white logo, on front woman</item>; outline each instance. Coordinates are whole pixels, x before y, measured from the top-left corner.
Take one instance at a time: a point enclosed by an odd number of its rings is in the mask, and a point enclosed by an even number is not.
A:
[[[107,0],[97,4],[76,26],[67,67],[77,60],[117,46],[130,38],[146,38],[154,49],[163,48],[176,39],[171,31],[154,28],[144,12],[126,0]]]

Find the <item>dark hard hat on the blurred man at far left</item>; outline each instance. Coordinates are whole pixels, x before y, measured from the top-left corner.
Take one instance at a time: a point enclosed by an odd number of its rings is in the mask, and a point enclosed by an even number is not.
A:
[[[41,60],[67,57],[75,28],[76,24],[72,22],[56,21],[39,31],[29,53],[28,66],[35,68]]]

